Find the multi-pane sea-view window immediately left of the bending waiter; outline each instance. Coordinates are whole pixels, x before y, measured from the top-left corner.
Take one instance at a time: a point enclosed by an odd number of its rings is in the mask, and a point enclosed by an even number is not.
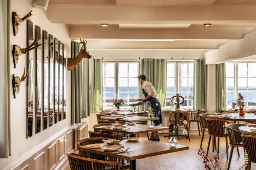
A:
[[[103,108],[113,108],[114,99],[123,99],[123,108],[138,99],[138,62],[103,62]]]

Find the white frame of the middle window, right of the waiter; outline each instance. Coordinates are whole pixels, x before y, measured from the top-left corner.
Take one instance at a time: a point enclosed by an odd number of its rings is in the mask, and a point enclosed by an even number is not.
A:
[[[168,63],[175,63],[175,77],[174,77],[174,81],[175,81],[175,94],[177,94],[177,93],[180,93],[180,78],[182,78],[182,77],[180,77],[180,73],[179,73],[179,64],[181,64],[181,63],[187,63],[187,64],[189,64],[189,63],[193,63],[194,64],[194,62],[193,61],[167,61],[167,64]],[[195,67],[195,65],[193,65],[194,67]],[[194,68],[193,67],[193,68]],[[187,65],[187,68],[188,68],[188,65]],[[195,69],[193,69],[193,71],[194,71]],[[188,69],[187,69],[187,71],[189,71]],[[194,75],[194,72],[193,72],[193,75]],[[166,79],[168,78],[168,75],[167,75],[167,72],[166,72]],[[187,77],[186,77],[186,79],[187,79],[187,81],[188,81],[188,79],[189,79],[190,77],[188,77],[188,72],[187,72]],[[194,76],[193,76],[193,80],[194,80],[195,78],[194,78]],[[194,90],[194,81],[193,81],[193,90]],[[166,93],[167,93],[167,84],[166,84]],[[187,94],[188,94],[188,90],[187,90],[187,92],[186,92]],[[166,98],[165,98],[166,99]],[[193,100],[194,100],[194,92],[193,92]],[[187,101],[189,101],[189,100],[187,100]],[[181,108],[193,108],[194,107],[194,102],[193,102],[193,106],[180,106]],[[170,109],[170,106],[166,106],[166,100],[165,100],[165,103],[164,103],[164,109]]]

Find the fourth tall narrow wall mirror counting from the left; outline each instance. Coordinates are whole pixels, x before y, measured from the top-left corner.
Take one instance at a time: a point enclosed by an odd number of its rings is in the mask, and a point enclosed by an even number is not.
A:
[[[49,68],[49,127],[53,125],[53,111],[54,111],[54,45],[53,36],[49,35],[49,53],[50,56],[50,68]]]

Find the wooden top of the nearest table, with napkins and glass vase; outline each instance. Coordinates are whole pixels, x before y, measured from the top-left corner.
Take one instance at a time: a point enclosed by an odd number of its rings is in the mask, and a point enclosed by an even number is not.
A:
[[[126,160],[136,160],[156,155],[188,150],[188,146],[186,145],[178,144],[176,147],[169,147],[168,143],[143,139],[139,139],[138,141],[122,140],[120,144],[124,146],[124,149],[129,148],[131,151],[115,154],[114,152],[104,152],[100,148],[88,148],[85,145],[78,147],[78,150],[87,151],[100,155],[117,157]]]

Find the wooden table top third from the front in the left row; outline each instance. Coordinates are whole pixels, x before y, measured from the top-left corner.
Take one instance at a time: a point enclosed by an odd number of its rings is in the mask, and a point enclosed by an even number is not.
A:
[[[150,118],[147,116],[126,116],[125,118],[120,118],[120,117],[116,117],[116,116],[102,116],[101,119],[104,120],[110,120],[110,121],[116,121],[116,120],[121,120],[123,122],[143,122],[143,121],[147,121]],[[158,120],[159,117],[154,117],[154,120]]]

